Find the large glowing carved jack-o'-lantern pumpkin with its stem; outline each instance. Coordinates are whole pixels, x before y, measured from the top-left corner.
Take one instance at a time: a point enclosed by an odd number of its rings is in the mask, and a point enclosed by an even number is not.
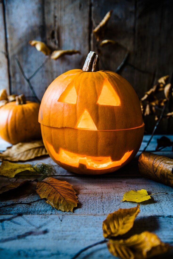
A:
[[[41,101],[39,122],[51,158],[79,174],[104,174],[127,164],[140,148],[139,99],[120,75],[99,71],[90,52],[83,69],[57,77]]]

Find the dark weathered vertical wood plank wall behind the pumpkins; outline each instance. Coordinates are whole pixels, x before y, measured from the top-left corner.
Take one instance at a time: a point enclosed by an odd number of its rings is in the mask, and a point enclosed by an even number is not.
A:
[[[54,78],[69,69],[82,68],[87,53],[97,51],[92,30],[110,9],[113,15],[106,38],[122,46],[104,47],[104,67],[100,64],[100,68],[115,71],[128,49],[129,58],[120,74],[133,85],[139,97],[163,75],[169,74],[173,82],[172,0],[3,0],[0,1],[0,89],[31,96],[15,59],[30,77],[46,57],[31,47],[29,40],[44,41],[53,49],[80,50],[81,55],[48,60],[31,79],[41,99]],[[171,122],[163,120],[157,132],[171,133]],[[149,133],[155,121],[150,117],[145,124]]]

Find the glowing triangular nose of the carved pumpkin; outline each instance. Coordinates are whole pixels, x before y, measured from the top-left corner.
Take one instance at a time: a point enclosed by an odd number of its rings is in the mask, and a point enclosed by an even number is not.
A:
[[[75,128],[97,130],[97,127],[95,126],[94,121],[87,110],[84,111]]]

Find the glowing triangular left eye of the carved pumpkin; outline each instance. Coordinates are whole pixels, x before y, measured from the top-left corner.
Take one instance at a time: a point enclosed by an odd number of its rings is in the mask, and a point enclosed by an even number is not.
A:
[[[71,82],[59,97],[58,102],[75,104],[76,101],[77,93],[74,87],[74,82]]]

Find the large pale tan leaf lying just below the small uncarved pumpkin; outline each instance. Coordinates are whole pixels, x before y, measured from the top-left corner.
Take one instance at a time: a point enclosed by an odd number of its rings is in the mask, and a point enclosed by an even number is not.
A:
[[[20,142],[8,147],[3,153],[0,153],[1,160],[26,161],[34,157],[48,155],[43,141],[36,140],[31,142]]]

